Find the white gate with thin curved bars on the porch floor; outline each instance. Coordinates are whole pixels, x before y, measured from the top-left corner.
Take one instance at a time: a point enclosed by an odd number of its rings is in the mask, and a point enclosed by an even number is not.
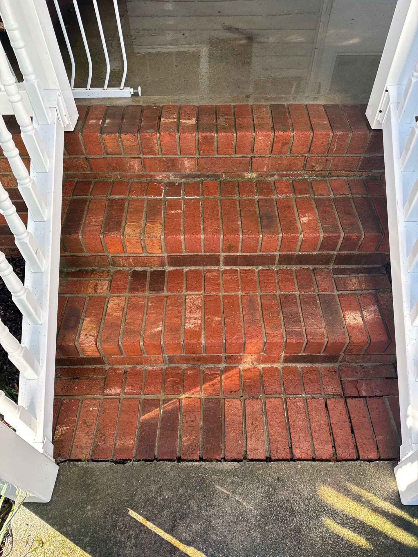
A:
[[[91,87],[91,79],[92,79],[92,76],[93,76],[93,60],[91,58],[91,53],[90,53],[88,32],[86,32],[86,30],[85,30],[83,18],[82,18],[82,15],[80,13],[78,0],[72,0],[72,3],[74,4],[74,9],[75,9],[76,17],[77,17],[77,22],[78,22],[78,25],[79,25],[79,28],[80,28],[80,33],[81,33],[81,39],[82,39],[82,43],[84,45],[84,50],[85,50],[85,54],[86,54],[87,62],[88,62],[88,67],[89,67],[86,87],[74,87],[74,81],[75,81],[75,76],[76,76],[75,56],[74,56],[74,52],[72,51],[72,47],[71,47],[71,39],[70,39],[70,37],[67,33],[67,30],[66,30],[66,27],[65,27],[64,17],[62,15],[61,7],[60,7],[60,0],[54,0],[55,9],[57,11],[58,20],[60,22],[62,35],[64,35],[65,44],[66,44],[66,47],[67,47],[67,50],[68,50],[68,53],[69,53],[69,56],[70,56],[70,62],[71,62],[70,83],[71,83],[71,90],[72,90],[72,93],[73,93],[74,97],[130,97],[130,96],[132,96],[133,93],[134,93],[134,90],[131,89],[130,87],[125,87],[125,79],[126,79],[127,71],[128,71],[128,59],[127,59],[127,52],[126,52],[126,49],[125,49],[125,41],[124,41],[124,38],[123,38],[122,26],[121,26],[121,22],[120,22],[118,0],[113,0],[113,7],[114,7],[114,12],[115,12],[116,27],[118,29],[120,51],[121,51],[121,55],[122,55],[122,59],[123,59],[123,71],[122,71],[121,81],[120,81],[120,86],[119,87],[109,87],[108,86],[109,77],[110,77],[110,60],[109,60],[109,52],[108,52],[108,46],[107,46],[107,43],[106,43],[105,32],[103,30],[103,24],[101,22],[101,17],[100,17],[100,11],[99,11],[100,0],[99,0],[99,3],[98,3],[98,0],[93,0],[93,7],[94,7],[94,14],[95,14],[95,17],[96,17],[96,22],[97,22],[97,25],[98,25],[100,41],[101,41],[101,45],[103,47],[105,63],[106,63],[106,76],[105,76],[103,87]],[[88,23],[90,24],[90,22],[88,22]],[[138,87],[138,89],[135,90],[135,92],[137,92],[140,95],[141,94],[140,87]]]

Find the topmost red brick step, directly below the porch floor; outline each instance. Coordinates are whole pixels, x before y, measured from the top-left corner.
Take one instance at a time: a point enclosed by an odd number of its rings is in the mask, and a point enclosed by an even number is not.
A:
[[[65,134],[67,177],[353,174],[383,170],[364,106],[79,106]],[[129,157],[129,158],[127,158]]]

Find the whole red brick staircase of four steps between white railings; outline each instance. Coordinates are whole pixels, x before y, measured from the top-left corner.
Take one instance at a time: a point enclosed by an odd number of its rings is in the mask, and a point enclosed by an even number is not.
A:
[[[382,142],[364,108],[79,108],[57,458],[397,458]]]

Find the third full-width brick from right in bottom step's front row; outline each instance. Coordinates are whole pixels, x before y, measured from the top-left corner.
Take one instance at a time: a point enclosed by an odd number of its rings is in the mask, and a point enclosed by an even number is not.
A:
[[[327,408],[331,422],[337,460],[356,460],[351,426],[347,416],[346,405],[341,398],[328,398]]]

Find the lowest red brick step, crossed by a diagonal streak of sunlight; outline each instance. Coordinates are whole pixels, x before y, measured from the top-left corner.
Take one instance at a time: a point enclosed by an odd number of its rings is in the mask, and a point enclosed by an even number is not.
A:
[[[392,365],[58,368],[57,460],[397,460]]]

